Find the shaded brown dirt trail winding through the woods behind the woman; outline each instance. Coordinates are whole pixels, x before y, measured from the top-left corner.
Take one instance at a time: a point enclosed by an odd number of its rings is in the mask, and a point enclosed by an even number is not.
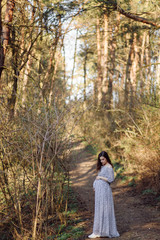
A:
[[[83,143],[74,145],[71,160],[73,190],[79,196],[86,235],[92,233],[94,214],[93,181],[96,156],[89,153]],[[119,240],[160,240],[160,212],[156,207],[144,205],[143,200],[128,185],[114,182],[112,192],[115,204]],[[107,238],[100,238],[107,239]],[[117,238],[116,238],[117,239]]]

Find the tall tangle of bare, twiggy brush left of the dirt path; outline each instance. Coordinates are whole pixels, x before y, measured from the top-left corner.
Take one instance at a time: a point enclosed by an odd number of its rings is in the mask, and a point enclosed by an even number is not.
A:
[[[43,239],[50,222],[66,224],[66,114],[45,106],[37,109],[35,104],[12,120],[1,109],[0,217],[5,239]]]

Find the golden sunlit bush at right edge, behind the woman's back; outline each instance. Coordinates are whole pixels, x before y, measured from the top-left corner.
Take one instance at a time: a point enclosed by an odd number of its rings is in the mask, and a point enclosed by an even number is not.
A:
[[[141,188],[160,192],[160,112],[152,107],[137,111],[137,119],[122,131],[117,145]]]

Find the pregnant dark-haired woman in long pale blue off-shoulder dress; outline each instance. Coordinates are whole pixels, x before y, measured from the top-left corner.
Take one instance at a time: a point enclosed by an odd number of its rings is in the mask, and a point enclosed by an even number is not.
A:
[[[110,183],[114,181],[113,165],[105,151],[98,155],[97,170],[98,176],[93,183],[95,190],[93,233],[88,237],[119,237],[110,187]]]

